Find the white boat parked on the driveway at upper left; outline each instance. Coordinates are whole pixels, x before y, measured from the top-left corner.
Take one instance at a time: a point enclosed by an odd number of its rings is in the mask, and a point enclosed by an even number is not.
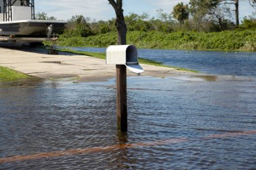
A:
[[[9,36],[51,38],[63,31],[65,24],[65,21],[36,20],[34,0],[0,0],[0,40]]]

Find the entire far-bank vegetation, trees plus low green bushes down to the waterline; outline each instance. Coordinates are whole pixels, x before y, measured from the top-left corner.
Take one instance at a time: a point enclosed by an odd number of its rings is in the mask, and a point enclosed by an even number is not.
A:
[[[250,0],[247,0],[250,1]],[[178,3],[172,12],[162,9],[156,17],[148,13],[125,16],[127,43],[139,48],[187,50],[256,50],[256,13],[238,18],[239,0],[190,0]],[[251,0],[251,5],[256,0]],[[38,13],[37,19],[56,19]],[[117,43],[115,18],[96,21],[75,15],[59,35],[60,46],[106,47]]]

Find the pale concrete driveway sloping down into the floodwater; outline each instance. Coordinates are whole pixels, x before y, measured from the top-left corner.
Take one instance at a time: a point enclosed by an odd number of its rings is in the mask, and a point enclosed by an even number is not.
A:
[[[106,65],[105,60],[67,52],[49,55],[42,48],[0,46],[0,65],[43,79],[79,77],[79,81],[101,81],[115,77],[115,65]],[[142,75],[165,77],[186,73],[166,67],[141,66],[145,70]],[[127,75],[135,74],[127,70]]]

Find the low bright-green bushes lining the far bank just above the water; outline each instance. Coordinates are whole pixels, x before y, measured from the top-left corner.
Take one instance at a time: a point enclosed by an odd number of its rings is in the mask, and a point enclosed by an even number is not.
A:
[[[181,50],[249,50],[255,51],[256,30],[224,32],[127,32],[127,44],[138,48],[168,48]],[[59,38],[61,46],[107,47],[117,44],[117,32],[96,36]]]

